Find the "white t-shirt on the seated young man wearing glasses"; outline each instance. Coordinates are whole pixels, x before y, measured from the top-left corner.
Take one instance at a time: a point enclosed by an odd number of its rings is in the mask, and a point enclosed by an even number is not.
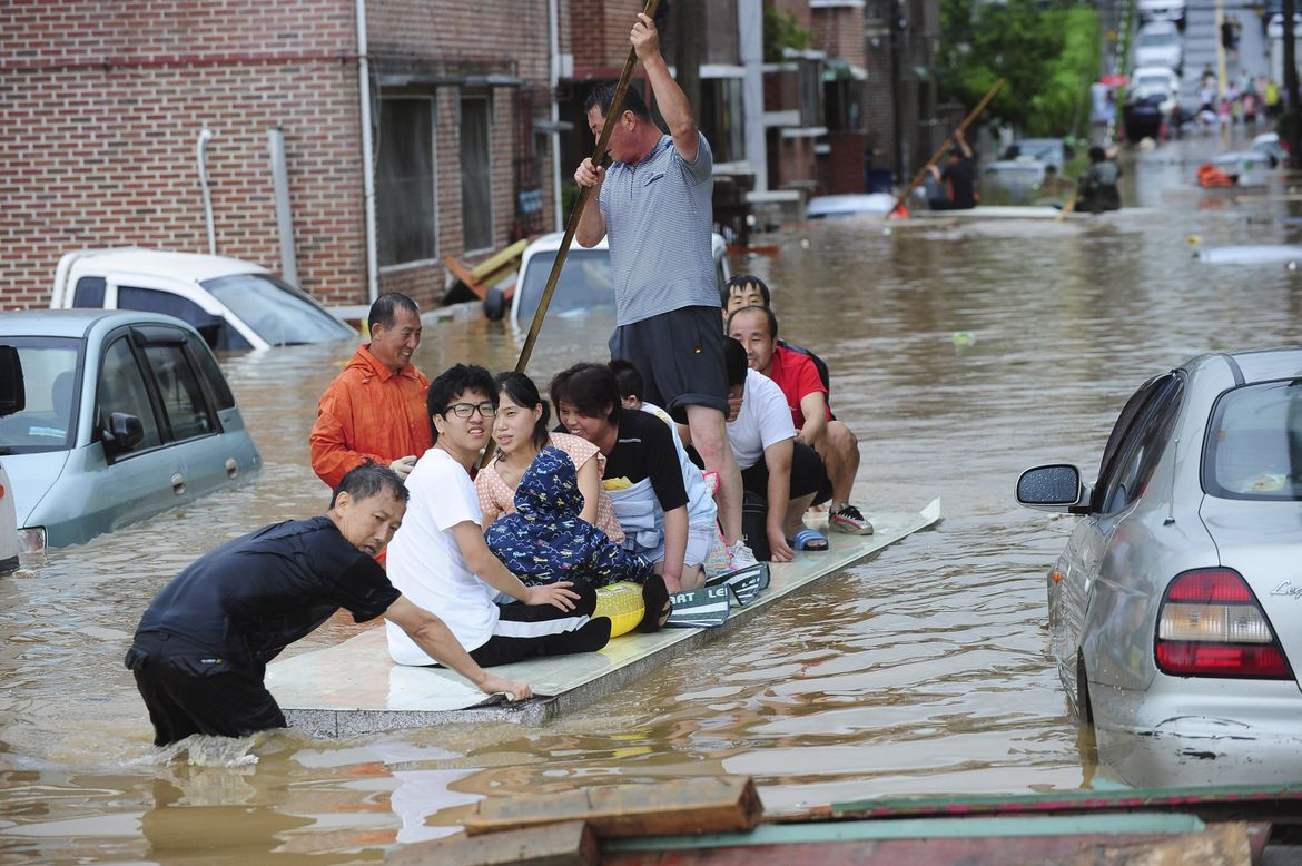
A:
[[[423,607],[452,629],[466,652],[488,642],[497,625],[497,606],[484,583],[466,566],[452,527],[479,526],[479,496],[465,468],[441,448],[431,448],[408,475],[402,526],[389,542],[389,581],[413,604]],[[389,656],[398,664],[435,664],[406,632],[385,622]]]

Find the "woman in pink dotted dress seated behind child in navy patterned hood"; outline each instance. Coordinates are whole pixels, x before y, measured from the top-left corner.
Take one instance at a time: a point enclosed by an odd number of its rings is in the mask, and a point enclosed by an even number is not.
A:
[[[551,406],[538,393],[538,385],[522,372],[497,376],[497,418],[492,438],[497,453],[475,475],[475,491],[488,531],[503,514],[516,510],[516,487],[529,465],[547,445],[564,451],[574,462],[578,488],[583,494],[579,517],[604,531],[616,544],[624,543],[624,530],[615,516],[611,496],[602,487],[605,456],[592,443],[564,432],[548,432]]]

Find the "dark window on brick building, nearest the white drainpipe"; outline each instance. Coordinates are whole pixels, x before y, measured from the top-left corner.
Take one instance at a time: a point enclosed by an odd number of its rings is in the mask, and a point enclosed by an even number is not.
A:
[[[380,266],[435,257],[434,99],[380,100],[375,221]]]

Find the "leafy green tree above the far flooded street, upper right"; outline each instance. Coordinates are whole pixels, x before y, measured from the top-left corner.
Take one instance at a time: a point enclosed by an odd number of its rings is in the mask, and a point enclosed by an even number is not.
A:
[[[982,121],[1066,135],[1099,70],[1099,16],[1081,0],[941,0],[940,92],[973,108],[1004,78]]]

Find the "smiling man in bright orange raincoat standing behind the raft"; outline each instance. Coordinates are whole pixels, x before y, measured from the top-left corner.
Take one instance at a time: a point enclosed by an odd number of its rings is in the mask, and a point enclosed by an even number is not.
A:
[[[322,395],[309,438],[312,470],[332,490],[367,460],[405,479],[434,444],[424,410],[430,380],[411,363],[421,345],[419,307],[405,294],[381,294],[367,324],[371,341]]]

